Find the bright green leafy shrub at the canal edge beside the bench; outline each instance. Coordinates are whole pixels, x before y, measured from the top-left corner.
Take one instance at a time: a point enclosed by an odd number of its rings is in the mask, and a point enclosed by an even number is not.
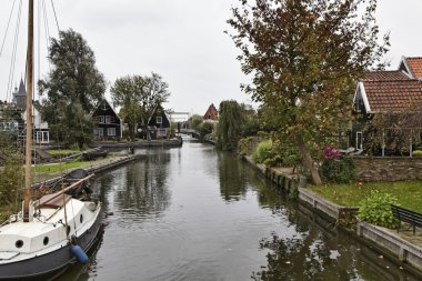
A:
[[[398,204],[395,197],[373,191],[359,203],[358,219],[379,227],[395,228],[399,221],[391,212],[391,204]]]

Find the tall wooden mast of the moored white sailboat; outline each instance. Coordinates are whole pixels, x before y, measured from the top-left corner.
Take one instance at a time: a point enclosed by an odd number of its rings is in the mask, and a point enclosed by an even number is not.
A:
[[[32,187],[32,88],[33,88],[33,0],[29,0],[28,12],[28,50],[27,50],[27,126],[26,126],[26,160],[24,160],[24,200],[23,221],[29,222],[31,215],[29,204]]]

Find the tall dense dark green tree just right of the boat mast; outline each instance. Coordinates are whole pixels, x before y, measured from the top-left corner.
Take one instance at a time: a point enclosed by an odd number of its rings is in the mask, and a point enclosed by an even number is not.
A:
[[[92,138],[89,113],[105,91],[104,77],[88,42],[71,29],[51,39],[48,59],[52,70],[38,83],[42,117],[56,139],[83,145]]]

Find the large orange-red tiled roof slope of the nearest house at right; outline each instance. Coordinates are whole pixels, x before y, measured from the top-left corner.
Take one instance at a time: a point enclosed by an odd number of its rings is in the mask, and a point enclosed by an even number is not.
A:
[[[422,106],[422,83],[415,79],[364,80],[372,112],[398,112]]]

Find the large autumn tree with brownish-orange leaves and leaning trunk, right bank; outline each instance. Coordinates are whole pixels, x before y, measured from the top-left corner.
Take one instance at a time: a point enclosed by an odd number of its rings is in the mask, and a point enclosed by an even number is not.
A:
[[[346,124],[354,81],[381,67],[389,44],[388,36],[379,43],[376,0],[240,2],[228,23],[242,70],[252,76],[242,88],[265,108],[265,124],[297,145],[319,184],[311,148]]]

